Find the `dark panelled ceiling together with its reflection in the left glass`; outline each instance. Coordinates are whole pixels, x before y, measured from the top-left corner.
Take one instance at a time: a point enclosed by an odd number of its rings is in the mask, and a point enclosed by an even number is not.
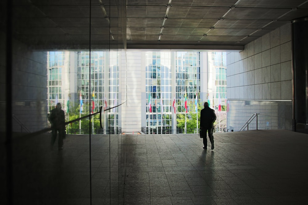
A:
[[[128,49],[236,50],[308,17],[306,0],[91,0],[91,15],[89,0],[13,4],[13,35],[42,49],[88,48],[91,25],[91,45],[97,49],[125,44]],[[5,28],[6,7],[1,7]]]

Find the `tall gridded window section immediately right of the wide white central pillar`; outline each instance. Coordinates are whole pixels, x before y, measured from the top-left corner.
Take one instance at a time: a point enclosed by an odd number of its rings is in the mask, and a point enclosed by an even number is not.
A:
[[[171,52],[146,52],[147,133],[170,133]]]

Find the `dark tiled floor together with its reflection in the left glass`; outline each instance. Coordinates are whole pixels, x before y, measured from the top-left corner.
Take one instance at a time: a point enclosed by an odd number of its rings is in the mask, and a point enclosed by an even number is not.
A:
[[[49,136],[39,139],[15,143],[16,204],[25,200],[90,204],[89,137],[67,136],[62,151],[56,145],[52,151],[47,149]],[[203,149],[197,134],[127,134],[110,139],[109,148],[109,136],[91,138],[92,204],[308,201],[307,134],[286,130],[214,133],[214,150]],[[36,143],[32,151],[24,146],[29,143]]]

